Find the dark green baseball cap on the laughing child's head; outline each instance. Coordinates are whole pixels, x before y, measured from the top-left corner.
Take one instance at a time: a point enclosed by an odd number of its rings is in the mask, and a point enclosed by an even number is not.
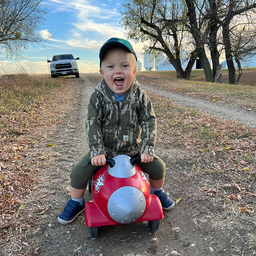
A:
[[[101,47],[100,47],[100,68],[101,68],[101,62],[103,59],[104,54],[112,47],[122,47],[129,52],[132,52],[136,58],[136,61],[138,60],[136,53],[134,52],[132,48],[132,44],[130,44],[127,40],[117,37],[111,37],[106,41]]]

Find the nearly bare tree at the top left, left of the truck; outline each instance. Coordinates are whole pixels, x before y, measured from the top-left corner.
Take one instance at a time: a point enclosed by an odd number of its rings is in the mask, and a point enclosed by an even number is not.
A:
[[[29,44],[50,38],[38,32],[47,14],[42,0],[0,0],[0,53],[4,58],[22,57]]]

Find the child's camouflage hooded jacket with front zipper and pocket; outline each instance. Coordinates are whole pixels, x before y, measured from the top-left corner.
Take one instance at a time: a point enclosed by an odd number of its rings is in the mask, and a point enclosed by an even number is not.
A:
[[[133,79],[123,101],[116,101],[105,80],[91,95],[86,112],[86,133],[91,157],[147,153],[154,156],[156,116],[152,103]]]

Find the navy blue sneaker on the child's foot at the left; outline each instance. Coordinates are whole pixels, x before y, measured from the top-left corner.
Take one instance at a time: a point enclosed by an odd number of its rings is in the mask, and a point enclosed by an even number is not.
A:
[[[85,202],[83,205],[79,205],[79,202],[69,199],[64,210],[59,214],[58,221],[61,224],[69,224],[76,219],[78,214],[84,211],[84,208]]]

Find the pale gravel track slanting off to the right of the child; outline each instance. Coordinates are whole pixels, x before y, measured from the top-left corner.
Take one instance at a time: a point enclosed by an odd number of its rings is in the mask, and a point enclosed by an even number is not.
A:
[[[249,111],[227,103],[216,101],[212,102],[210,100],[203,100],[197,97],[190,97],[185,94],[162,90],[157,86],[147,84],[140,84],[140,86],[143,90],[148,90],[158,94],[159,96],[164,96],[165,98],[174,100],[180,105],[189,108],[202,109],[211,116],[217,116],[227,120],[234,120],[246,125],[250,124],[251,127],[256,127],[255,111]]]

